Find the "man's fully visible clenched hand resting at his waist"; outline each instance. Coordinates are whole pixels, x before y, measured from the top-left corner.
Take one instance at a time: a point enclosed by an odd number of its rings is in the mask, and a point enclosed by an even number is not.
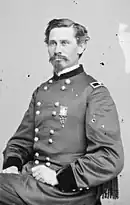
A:
[[[50,184],[52,186],[58,184],[56,172],[45,165],[38,165],[32,168],[32,175],[35,179]]]

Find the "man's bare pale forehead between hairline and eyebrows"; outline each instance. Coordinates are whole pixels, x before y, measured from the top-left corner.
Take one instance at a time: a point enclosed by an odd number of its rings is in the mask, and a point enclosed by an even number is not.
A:
[[[49,40],[68,39],[71,41],[76,41],[74,34],[74,29],[72,27],[54,28],[50,32]]]

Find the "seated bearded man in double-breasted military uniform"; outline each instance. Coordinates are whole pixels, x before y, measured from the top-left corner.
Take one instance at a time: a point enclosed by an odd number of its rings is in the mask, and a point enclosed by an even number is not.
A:
[[[124,155],[109,91],[79,64],[86,28],[53,19],[45,32],[53,76],[33,93],[3,152],[0,204],[99,205],[118,198]]]

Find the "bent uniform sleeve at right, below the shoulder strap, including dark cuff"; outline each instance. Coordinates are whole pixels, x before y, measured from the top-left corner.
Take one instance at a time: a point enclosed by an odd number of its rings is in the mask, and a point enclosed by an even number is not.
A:
[[[116,177],[124,165],[118,114],[105,87],[94,89],[87,100],[85,130],[85,155],[57,173],[65,191],[101,185]]]

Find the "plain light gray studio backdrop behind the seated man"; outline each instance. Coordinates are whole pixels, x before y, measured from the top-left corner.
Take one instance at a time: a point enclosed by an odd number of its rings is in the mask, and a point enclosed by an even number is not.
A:
[[[0,0],[0,167],[2,150],[18,127],[33,90],[52,75],[44,31],[53,18],[70,18],[89,30],[81,63],[114,98],[121,125],[125,166],[119,176],[120,199],[130,201],[130,1]]]

